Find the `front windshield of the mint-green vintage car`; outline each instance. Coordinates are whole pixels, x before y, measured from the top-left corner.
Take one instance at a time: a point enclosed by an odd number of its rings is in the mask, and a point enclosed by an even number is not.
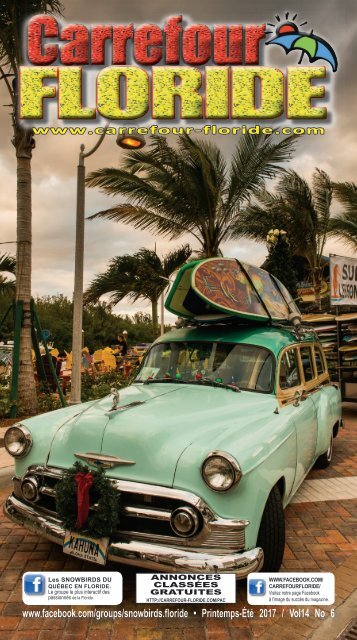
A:
[[[170,380],[188,384],[212,382],[271,393],[274,356],[263,347],[249,344],[161,342],[149,351],[135,381]]]

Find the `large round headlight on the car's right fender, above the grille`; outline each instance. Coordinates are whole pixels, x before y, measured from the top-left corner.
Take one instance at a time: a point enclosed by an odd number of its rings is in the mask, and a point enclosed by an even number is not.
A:
[[[213,451],[202,465],[202,477],[213,491],[228,491],[242,477],[238,462],[228,453]]]

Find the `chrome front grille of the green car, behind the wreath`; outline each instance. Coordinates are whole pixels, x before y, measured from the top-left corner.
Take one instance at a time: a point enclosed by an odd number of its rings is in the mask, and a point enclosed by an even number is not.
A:
[[[40,484],[39,500],[30,503],[38,511],[51,517],[56,513],[56,485],[63,474],[54,467],[30,467],[26,475],[36,476]],[[199,497],[185,491],[122,480],[113,480],[120,491],[120,521],[117,537],[189,547],[192,550],[231,553],[245,548],[246,521],[221,519]],[[15,495],[24,500],[21,479],[14,479]],[[25,501],[26,502],[26,501]],[[179,537],[170,525],[172,512],[178,507],[194,508],[199,527],[192,537]],[[95,505],[91,507],[95,509]]]

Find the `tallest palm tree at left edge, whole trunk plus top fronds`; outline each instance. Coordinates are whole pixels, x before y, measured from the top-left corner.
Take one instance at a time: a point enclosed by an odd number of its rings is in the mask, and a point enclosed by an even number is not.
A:
[[[36,13],[55,13],[62,8],[59,0],[2,0],[0,5],[0,79],[10,97],[14,136],[12,143],[17,159],[17,255],[16,301],[23,302],[20,337],[18,399],[26,411],[36,412],[37,398],[31,357],[31,157],[35,146],[32,128],[17,120],[18,69],[22,57],[22,25]]]

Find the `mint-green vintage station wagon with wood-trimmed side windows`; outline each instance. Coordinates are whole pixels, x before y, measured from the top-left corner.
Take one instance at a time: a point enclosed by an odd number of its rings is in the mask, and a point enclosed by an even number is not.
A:
[[[170,571],[277,571],[283,509],[341,422],[315,334],[229,316],[163,335],[111,397],[10,428],[16,459],[5,513],[63,545],[55,487],[77,459],[121,493],[111,561]],[[93,505],[91,506],[91,508]]]

